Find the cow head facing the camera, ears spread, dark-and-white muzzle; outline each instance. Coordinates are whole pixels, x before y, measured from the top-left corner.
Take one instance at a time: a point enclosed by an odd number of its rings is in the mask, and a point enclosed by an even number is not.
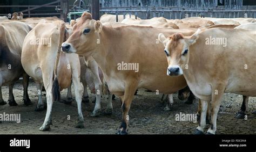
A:
[[[183,70],[187,67],[190,57],[189,46],[196,42],[199,32],[200,29],[191,37],[184,37],[179,33],[173,34],[169,38],[165,38],[161,33],[158,35],[159,41],[165,46],[164,52],[169,65],[167,75],[183,75]]]

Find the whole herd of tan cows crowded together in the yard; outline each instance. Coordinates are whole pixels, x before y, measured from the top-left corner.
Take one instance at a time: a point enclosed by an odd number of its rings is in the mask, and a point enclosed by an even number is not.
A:
[[[244,118],[248,98],[256,96],[256,19],[200,18],[140,19],[134,16],[90,13],[69,23],[56,17],[25,18],[14,13],[12,20],[0,17],[0,86],[9,86],[9,105],[16,106],[12,88],[23,78],[23,102],[30,105],[29,77],[37,88],[35,111],[46,110],[39,128],[48,131],[52,104],[68,88],[65,103],[75,92],[77,128],[84,127],[82,102],[89,102],[87,86],[96,95],[92,117],[100,114],[102,95],[108,95],[106,113],[112,113],[112,96],[122,101],[122,124],[117,134],[127,134],[129,111],[138,88],[172,94],[192,103],[199,98],[199,126],[195,134],[217,130],[217,113],[224,93],[243,96],[236,118]],[[84,91],[82,95],[82,82]],[[46,91],[43,101],[42,89]],[[0,105],[6,104],[0,87]],[[114,98],[114,97],[113,97]]]

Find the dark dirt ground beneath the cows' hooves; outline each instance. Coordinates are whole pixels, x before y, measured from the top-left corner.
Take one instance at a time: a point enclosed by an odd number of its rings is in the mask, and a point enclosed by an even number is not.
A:
[[[73,92],[73,91],[72,91]],[[90,92],[90,91],[89,91]],[[8,87],[2,87],[3,98],[8,100]],[[43,92],[45,98],[45,92]],[[72,93],[74,96],[74,93]],[[21,81],[14,86],[14,96],[18,106],[11,107],[9,104],[0,106],[0,113],[20,113],[21,123],[3,121],[0,124],[0,134],[115,134],[122,120],[120,99],[113,100],[113,114],[99,117],[90,117],[95,106],[92,100],[95,98],[89,93],[90,103],[82,103],[82,111],[85,120],[85,128],[75,128],[77,118],[77,104],[71,105],[55,102],[52,107],[52,126],[50,132],[41,132],[39,127],[43,124],[46,110],[36,112],[37,91],[35,83],[30,81],[29,96],[32,105],[25,106],[22,102],[23,88]],[[66,89],[61,92],[62,99],[66,97]],[[174,104],[171,111],[163,111],[164,106],[159,101],[161,94],[146,92],[139,89],[138,95],[134,96],[130,110],[129,134],[193,134],[198,123],[192,121],[176,121],[177,113],[196,113],[198,99],[192,105],[185,104],[174,95]],[[102,98],[102,111],[105,110],[107,97]],[[226,93],[221,103],[217,120],[216,134],[256,134],[256,116],[252,111],[256,110],[256,98],[250,98],[248,102],[248,119],[235,119],[235,113],[240,110],[242,96]],[[67,119],[70,115],[70,120]],[[206,128],[208,128],[207,125]],[[207,129],[205,129],[205,132]]]

